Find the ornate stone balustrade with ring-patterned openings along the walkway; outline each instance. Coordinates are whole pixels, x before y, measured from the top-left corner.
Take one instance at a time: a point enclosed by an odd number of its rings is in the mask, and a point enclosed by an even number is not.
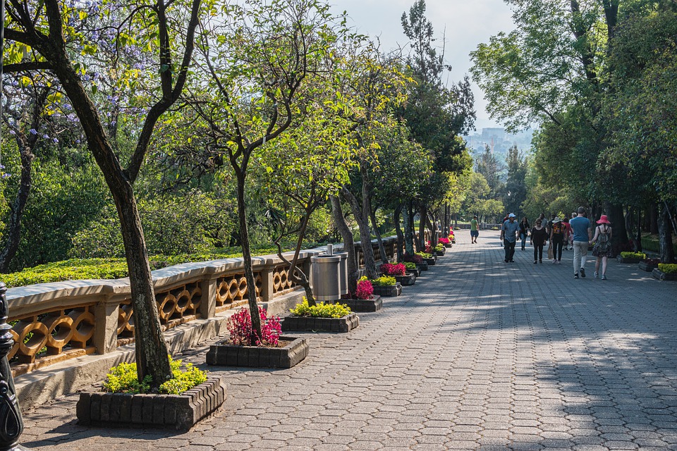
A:
[[[384,239],[393,258],[396,239]],[[355,245],[361,259],[362,247]],[[377,242],[372,242],[377,260]],[[310,274],[310,257],[324,247],[305,250],[300,266]],[[363,263],[362,263],[363,264]],[[253,259],[259,302],[298,290],[288,266],[274,255]],[[155,301],[164,330],[247,304],[249,287],[242,259],[188,263],[153,271]],[[134,311],[128,279],[41,283],[7,291],[8,321],[16,344],[8,354],[15,375],[85,354],[106,354],[134,340]]]

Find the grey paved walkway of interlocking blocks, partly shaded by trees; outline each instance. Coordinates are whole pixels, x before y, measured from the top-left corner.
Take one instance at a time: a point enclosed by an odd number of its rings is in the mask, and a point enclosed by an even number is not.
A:
[[[677,283],[503,262],[467,231],[293,369],[212,368],[228,401],[188,433],[84,428],[75,395],[25,414],[37,450],[677,450]],[[491,235],[491,236],[490,236]],[[205,348],[188,359],[203,362]]]

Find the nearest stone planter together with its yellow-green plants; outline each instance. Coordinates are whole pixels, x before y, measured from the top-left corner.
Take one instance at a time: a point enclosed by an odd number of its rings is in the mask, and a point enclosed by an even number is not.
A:
[[[169,359],[173,378],[160,385],[159,393],[149,393],[150,376],[139,382],[135,363],[114,366],[102,390],[81,392],[75,415],[78,424],[170,428],[188,430],[221,407],[226,385],[220,377],[181,360]]]

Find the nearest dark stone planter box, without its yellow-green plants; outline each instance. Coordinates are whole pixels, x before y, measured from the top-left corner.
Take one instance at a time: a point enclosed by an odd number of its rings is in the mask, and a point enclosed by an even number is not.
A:
[[[75,414],[78,424],[85,426],[187,431],[225,400],[226,384],[220,377],[210,377],[181,395],[83,392]]]

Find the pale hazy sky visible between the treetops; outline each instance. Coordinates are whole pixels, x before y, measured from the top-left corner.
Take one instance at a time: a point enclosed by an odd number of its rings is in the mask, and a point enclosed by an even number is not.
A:
[[[408,43],[402,31],[401,17],[414,0],[329,0],[335,13],[346,11],[348,25],[370,37],[379,37],[383,51],[404,47]],[[444,44],[445,63],[451,64],[449,83],[470,75],[470,52],[489,37],[513,30],[511,10],[503,0],[426,0],[425,16],[432,22],[434,44],[441,51]],[[408,51],[406,47],[405,51]],[[487,102],[480,87],[472,83],[478,131],[500,127],[485,111]]]

